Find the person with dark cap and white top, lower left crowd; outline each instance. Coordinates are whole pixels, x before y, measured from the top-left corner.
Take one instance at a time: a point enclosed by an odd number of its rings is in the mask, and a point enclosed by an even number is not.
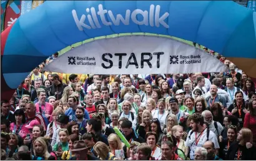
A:
[[[69,117],[67,115],[61,114],[58,116],[57,122],[59,123],[59,127],[57,127],[57,129],[54,130],[52,135],[52,142],[51,142],[52,149],[55,144],[60,142],[59,135],[58,135],[59,129],[67,129],[67,125],[69,124]]]

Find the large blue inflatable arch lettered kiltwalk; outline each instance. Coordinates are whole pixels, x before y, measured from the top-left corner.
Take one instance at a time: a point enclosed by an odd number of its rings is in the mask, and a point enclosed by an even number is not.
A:
[[[1,34],[2,99],[54,52],[130,32],[197,42],[256,77],[256,12],[233,1],[46,1]]]

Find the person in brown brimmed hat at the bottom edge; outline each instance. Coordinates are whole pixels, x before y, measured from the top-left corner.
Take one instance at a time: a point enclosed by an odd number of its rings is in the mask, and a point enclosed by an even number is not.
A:
[[[71,157],[69,160],[99,160],[98,158],[88,154],[89,147],[86,146],[84,140],[74,142],[74,149],[70,151],[76,157]]]

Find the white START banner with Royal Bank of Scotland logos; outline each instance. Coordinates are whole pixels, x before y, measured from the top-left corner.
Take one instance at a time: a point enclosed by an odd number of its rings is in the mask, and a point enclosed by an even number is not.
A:
[[[122,36],[82,44],[54,59],[45,71],[77,74],[225,72],[201,49],[166,37]]]

